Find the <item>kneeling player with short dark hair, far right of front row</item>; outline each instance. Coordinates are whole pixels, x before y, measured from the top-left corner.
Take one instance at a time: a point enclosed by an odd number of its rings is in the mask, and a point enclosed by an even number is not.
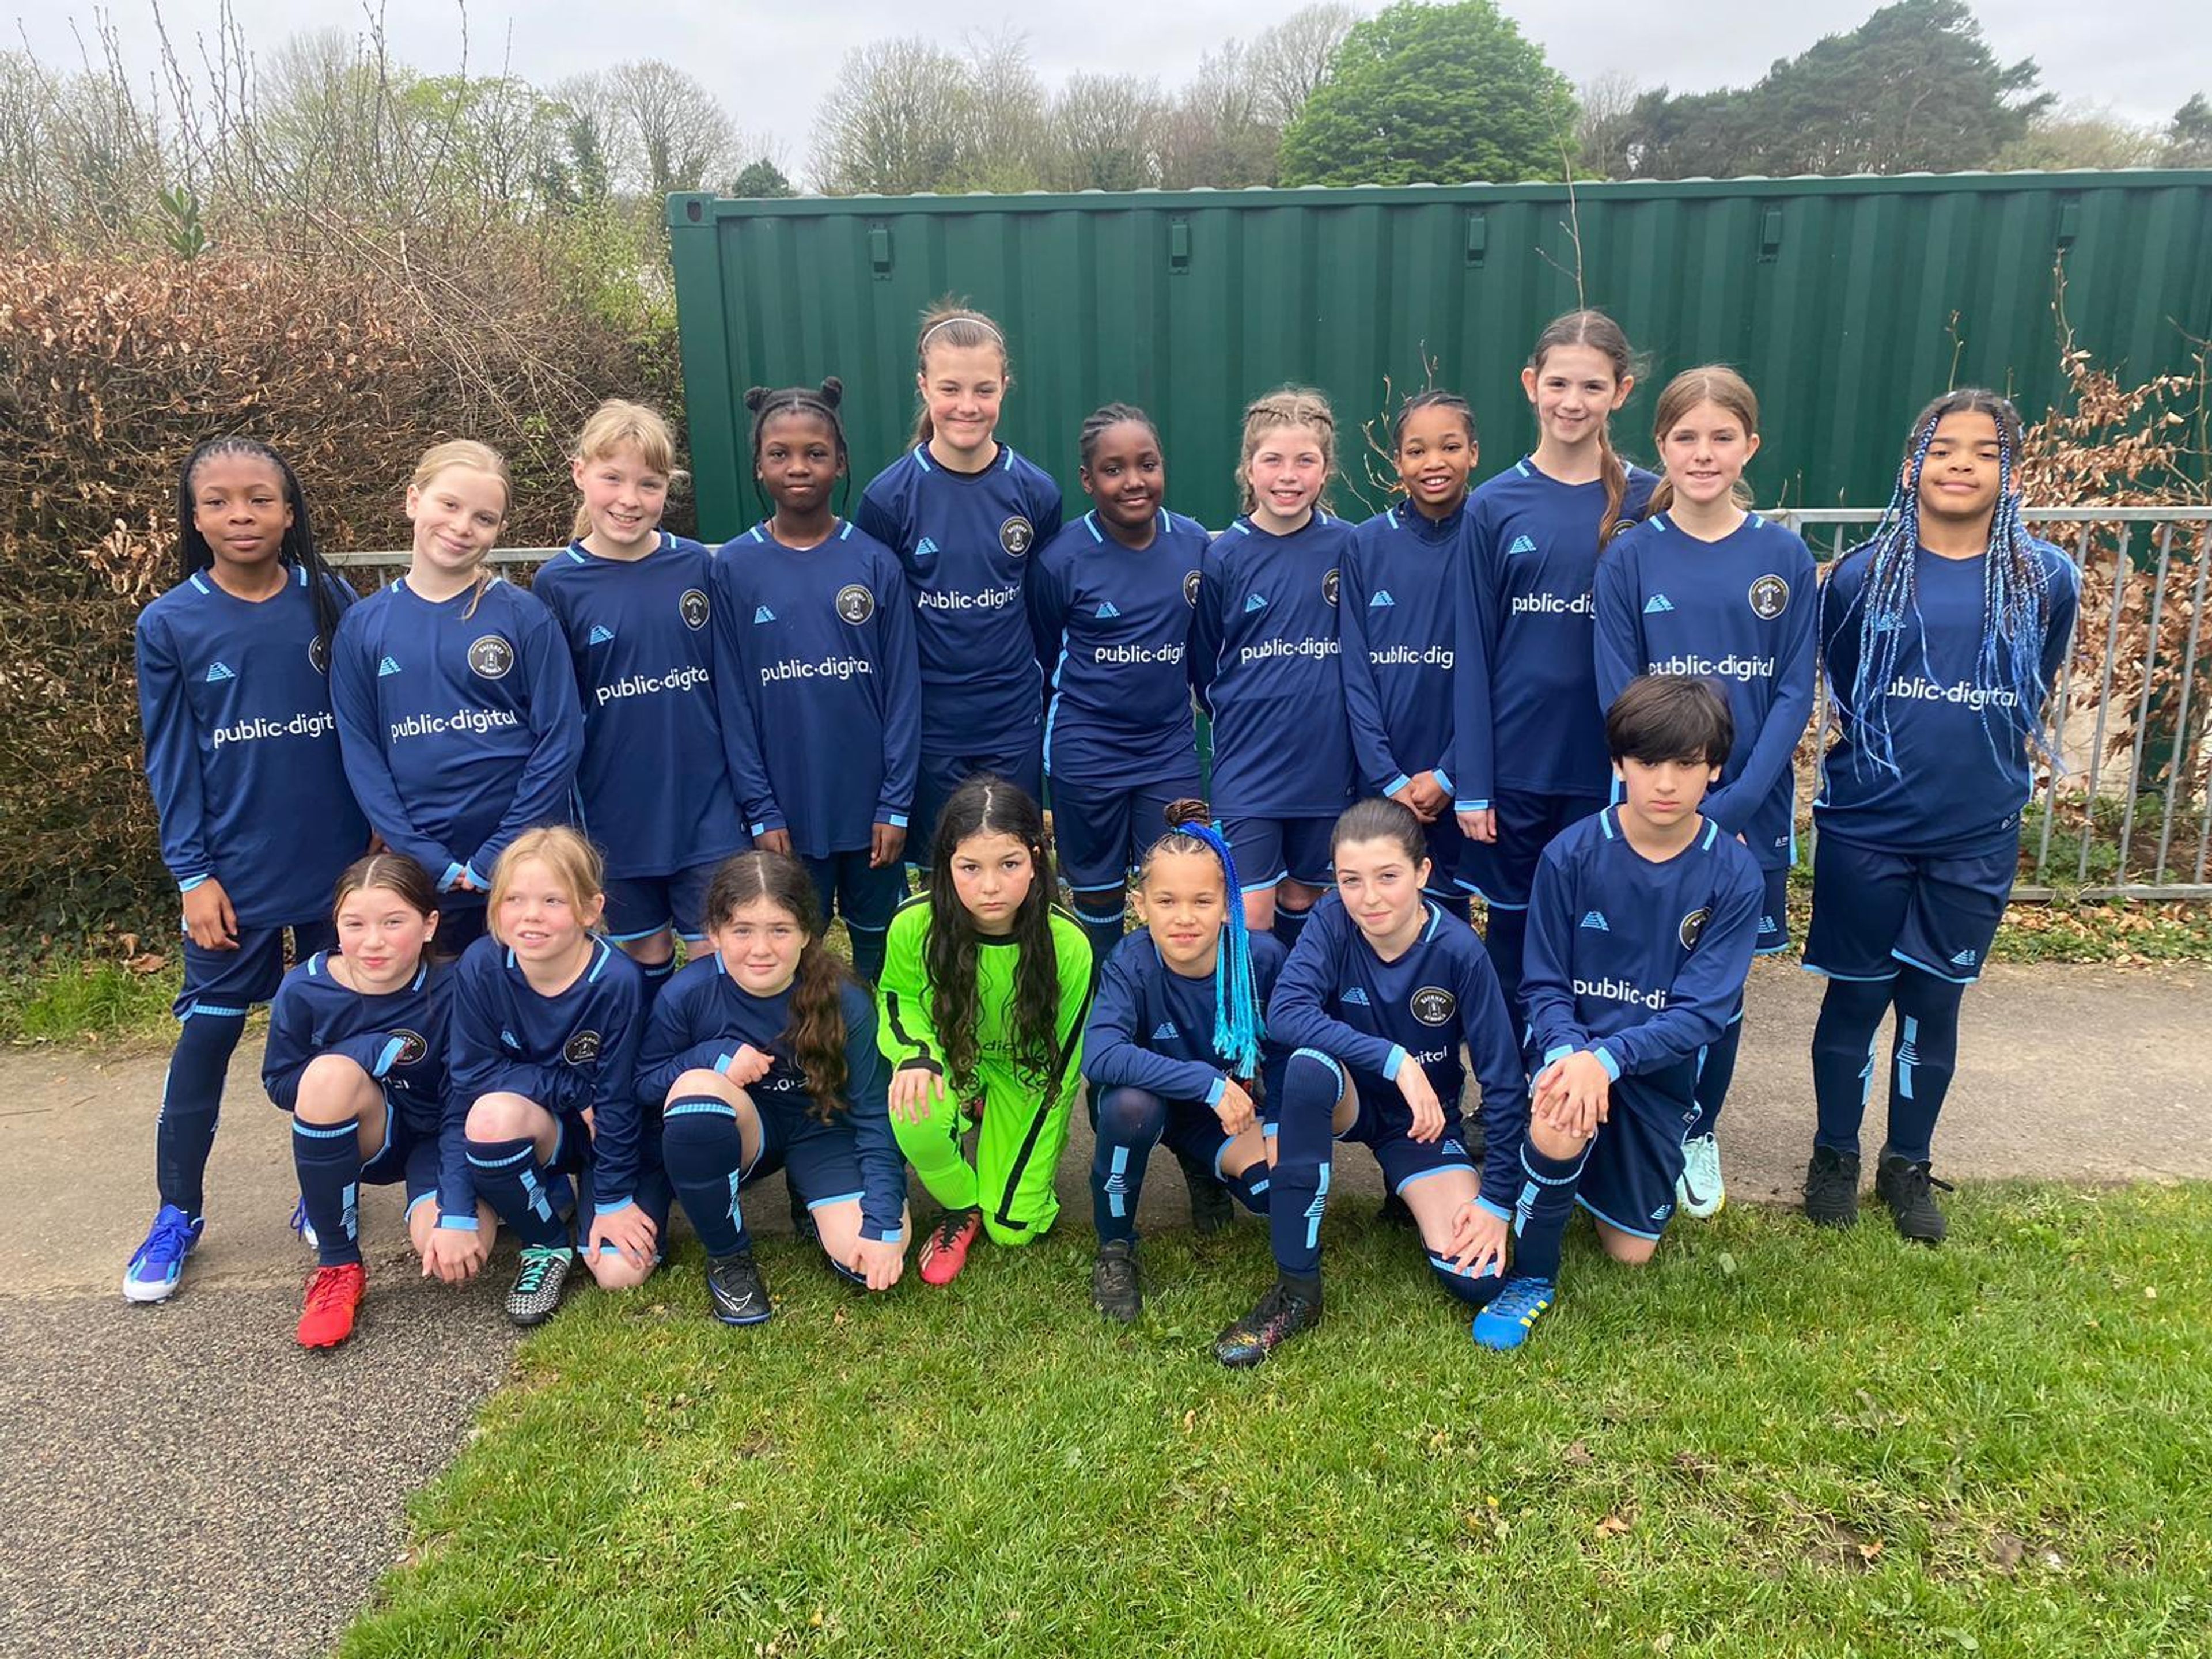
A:
[[[1765,896],[1759,860],[1699,812],[1732,743],[1728,703],[1701,679],[1637,679],[1606,712],[1619,805],[1537,865],[1522,993],[1542,1071],[1513,1276],[1473,1325],[1484,1347],[1520,1347],[1551,1307],[1577,1203],[1624,1263],[1650,1261],[1674,1214],[1699,1053],[1743,995]]]

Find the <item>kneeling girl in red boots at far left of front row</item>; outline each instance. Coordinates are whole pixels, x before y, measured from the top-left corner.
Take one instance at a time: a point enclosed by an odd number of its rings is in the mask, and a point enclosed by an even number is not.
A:
[[[407,1183],[407,1237],[425,1276],[465,1283],[498,1228],[476,1201],[460,1110],[445,1079],[453,969],[431,962],[438,894],[414,858],[378,852],[338,876],[336,951],[285,973],[270,1004],[261,1086],[292,1113],[305,1232],[316,1270],[301,1347],[354,1334],[367,1292],[361,1188]],[[431,1203],[436,1199],[436,1203]]]

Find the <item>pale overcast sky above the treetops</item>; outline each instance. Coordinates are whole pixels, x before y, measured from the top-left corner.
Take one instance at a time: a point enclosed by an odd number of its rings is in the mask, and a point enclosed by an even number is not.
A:
[[[376,0],[369,0],[374,7]],[[77,62],[75,29],[91,35],[93,7],[27,7],[0,0],[15,20],[13,40],[49,62]],[[1575,82],[1621,71],[1674,91],[1741,86],[1776,58],[1823,33],[1863,22],[1876,0],[1504,0],[1522,31]],[[361,31],[358,0],[230,0],[250,51],[265,51],[299,29]],[[626,58],[666,58],[710,86],[748,131],[768,131],[785,164],[805,166],[814,104],[847,46],[883,35],[942,31],[958,46],[962,29],[1020,29],[1046,86],[1073,71],[1155,75],[1164,88],[1188,80],[1199,55],[1230,35],[1252,38],[1287,15],[1230,0],[1110,0],[1099,7],[1002,7],[980,0],[969,13],[920,9],[911,0],[827,0],[816,7],[748,0],[646,0],[644,4],[529,4],[473,0],[467,53],[473,73],[502,64],[549,84]],[[1363,11],[1374,11],[1363,4]],[[126,55],[153,62],[148,0],[111,0]],[[217,0],[161,0],[161,18],[186,58],[195,33],[210,31]],[[2203,7],[2190,0],[1984,0],[1982,31],[2002,62],[2033,58],[2042,84],[2066,102],[2110,106],[2139,122],[2163,122],[2190,93],[2212,91],[2212,51]],[[453,0],[387,0],[385,33],[403,62],[451,71],[462,55],[462,11]],[[964,20],[962,20],[964,15]]]

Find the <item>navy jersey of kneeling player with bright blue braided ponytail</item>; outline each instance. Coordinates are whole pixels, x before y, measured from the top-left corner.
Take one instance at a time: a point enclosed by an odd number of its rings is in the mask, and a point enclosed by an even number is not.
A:
[[[1230,900],[1234,902],[1234,898]],[[1252,993],[1267,1006],[1283,975],[1283,945],[1270,933],[1252,936]],[[1084,1026],[1084,1077],[1097,1088],[1144,1088],[1161,1099],[1221,1102],[1234,1075],[1214,1053],[1214,967],[1201,980],[1170,969],[1150,929],[1139,927],[1106,958],[1106,971],[1091,1000]],[[1263,1031],[1259,1044],[1265,1097],[1283,1099],[1283,1064],[1290,1046]],[[1239,1077],[1250,1086],[1250,1077]]]

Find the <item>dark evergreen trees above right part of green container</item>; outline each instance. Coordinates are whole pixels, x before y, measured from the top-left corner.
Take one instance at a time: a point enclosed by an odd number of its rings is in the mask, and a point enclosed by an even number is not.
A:
[[[1964,0],[1898,0],[1752,86],[1646,93],[1621,153],[1650,179],[1984,168],[2051,108],[2037,75],[1991,55]]]

